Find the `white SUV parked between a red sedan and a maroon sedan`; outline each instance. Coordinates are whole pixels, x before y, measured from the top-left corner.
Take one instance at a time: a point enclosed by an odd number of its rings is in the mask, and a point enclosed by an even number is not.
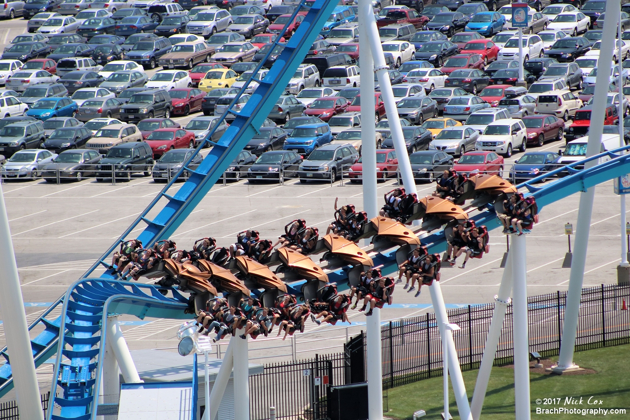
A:
[[[475,143],[475,150],[493,151],[509,158],[515,148],[524,152],[527,147],[527,129],[519,119],[501,119],[488,124]]]

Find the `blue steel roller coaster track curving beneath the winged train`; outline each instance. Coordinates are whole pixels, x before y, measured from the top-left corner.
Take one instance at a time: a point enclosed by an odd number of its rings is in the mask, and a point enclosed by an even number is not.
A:
[[[201,165],[197,169],[191,170],[186,168],[186,165],[190,163],[188,161],[139,218],[125,230],[117,242],[113,243],[84,276],[67,290],[65,295],[61,296],[30,325],[29,330],[43,327],[43,332],[31,340],[35,365],[40,366],[54,354],[57,354],[51,392],[51,395],[54,395],[54,409],[49,409],[47,420],[96,419],[101,378],[100,361],[103,358],[106,339],[106,334],[102,334],[102,331],[106,328],[108,316],[127,314],[135,315],[140,319],[145,317],[190,318],[190,315],[186,315],[184,312],[188,306],[188,299],[178,293],[176,289],[170,290],[172,297],[166,297],[159,292],[159,289],[163,289],[161,286],[117,281],[112,272],[109,271],[105,271],[99,278],[89,278],[89,276],[99,265],[108,267],[107,259],[110,254],[121,242],[127,240],[130,233],[140,223],[146,224],[146,228],[139,235],[139,240],[144,244],[169,238],[181,225],[212,185],[221,177],[239,151],[243,149],[243,146],[253,137],[257,127],[260,127],[265,120],[268,114],[267,110],[284,93],[289,79],[306,56],[307,50],[335,5],[336,1],[333,0],[316,1],[265,79],[252,78],[246,83],[242,91],[251,81],[256,81],[259,86],[243,110],[235,112],[232,110],[232,106],[229,107],[227,112],[234,114],[235,119],[224,136],[217,143],[208,140],[211,138],[210,135],[207,137],[206,142],[213,147]],[[297,14],[297,10],[294,15]],[[270,52],[272,50],[270,49]],[[266,59],[263,59],[261,63],[265,61]],[[258,66],[258,69],[260,67],[261,65]],[[225,115],[222,118],[224,117]],[[216,126],[218,127],[219,124]],[[202,146],[203,143],[197,148],[197,153]],[[585,163],[585,161],[580,161],[578,162],[579,165],[575,163],[559,168],[552,173],[533,178],[519,187],[527,188],[536,197],[540,208],[576,192],[584,191],[589,187],[629,173],[630,155],[618,155],[628,148],[619,148],[589,158],[588,160],[609,159],[592,168],[578,168]],[[185,170],[190,173],[190,177],[175,194],[169,194],[169,189]],[[534,185],[542,178],[554,177],[561,172],[568,172],[568,176],[559,178],[544,185],[544,187]],[[164,199],[166,200],[165,205],[157,213],[157,216],[149,219],[148,214],[163,203]],[[499,227],[496,222],[495,211],[490,205],[474,216],[474,219],[478,225],[488,226],[489,230]],[[428,246],[430,252],[442,252],[446,248],[443,231],[423,238],[422,242]],[[372,259],[375,265],[383,265],[384,272],[393,272],[396,269],[395,251],[377,254]],[[329,280],[343,284],[346,279],[345,273],[345,268],[331,272],[329,273]],[[57,312],[60,312],[60,315],[55,318]],[[53,319],[50,320],[49,318]],[[0,354],[6,359],[6,363],[0,366],[1,397],[13,388],[13,376],[11,375],[7,349],[1,350]]]

